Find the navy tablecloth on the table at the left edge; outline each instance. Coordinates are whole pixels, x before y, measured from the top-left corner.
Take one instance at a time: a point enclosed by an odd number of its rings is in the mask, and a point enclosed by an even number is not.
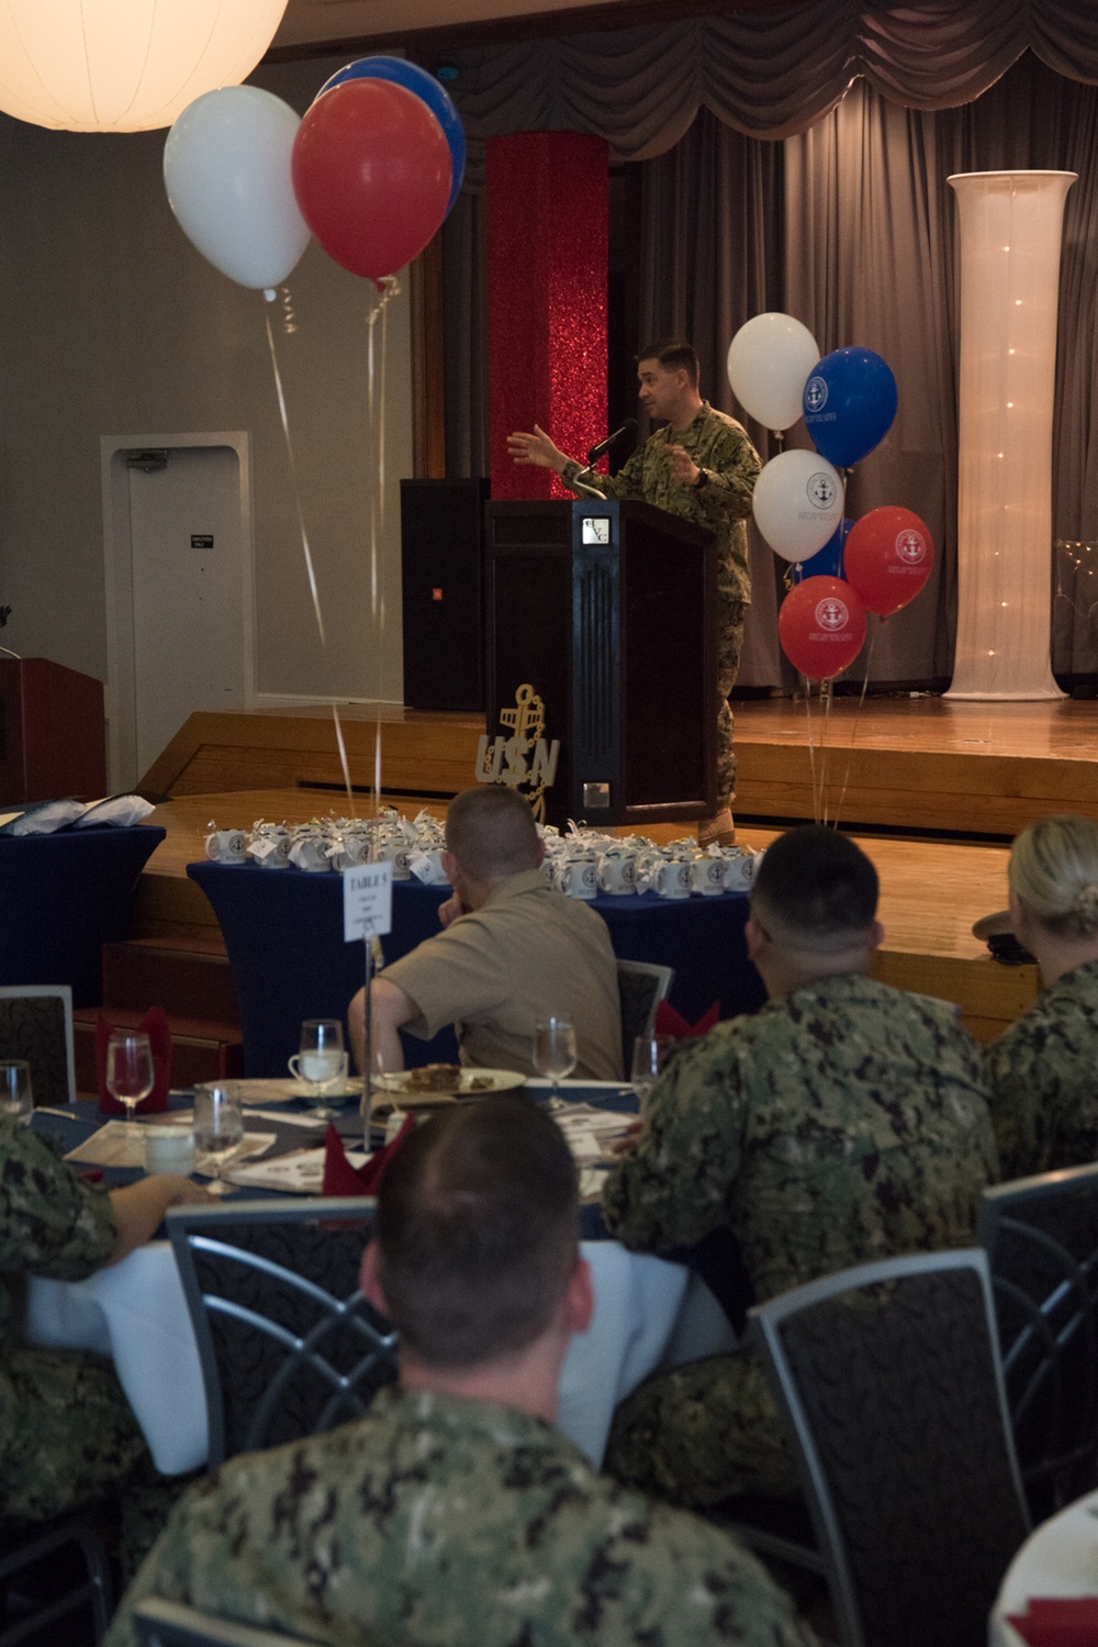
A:
[[[0,835],[0,983],[67,983],[74,1006],[102,998],[104,944],[122,939],[138,876],[165,830]]]

